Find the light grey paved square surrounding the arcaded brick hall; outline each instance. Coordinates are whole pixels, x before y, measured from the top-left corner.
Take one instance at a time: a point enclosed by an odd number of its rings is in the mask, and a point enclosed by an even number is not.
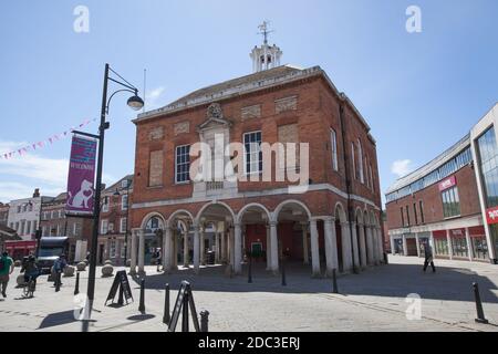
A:
[[[89,330],[164,332],[164,285],[172,287],[173,308],[180,281],[188,280],[197,311],[210,313],[210,331],[498,331],[497,266],[436,260],[436,273],[424,273],[421,263],[417,258],[390,257],[388,266],[339,277],[339,294],[332,294],[330,279],[312,279],[310,269],[300,264],[286,266],[287,287],[263,264],[255,266],[252,283],[247,275],[224,275],[222,267],[203,268],[200,275],[191,269],[164,275],[147,267],[145,314],[138,312],[137,279],[129,278],[135,301],[117,308],[104,306],[113,278],[97,278]],[[82,322],[74,319],[75,277],[63,278],[60,292],[43,277],[35,298],[24,300],[22,290],[14,288],[18,272],[11,277],[8,298],[0,300],[0,331],[82,330]],[[488,325],[474,321],[474,281],[479,283]],[[87,271],[81,273],[82,294],[86,282]],[[422,298],[421,320],[406,317],[409,293]]]

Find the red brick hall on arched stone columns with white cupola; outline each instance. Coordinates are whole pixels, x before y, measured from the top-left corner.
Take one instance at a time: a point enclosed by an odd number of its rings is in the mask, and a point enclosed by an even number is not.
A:
[[[249,251],[262,256],[270,271],[277,272],[286,257],[311,264],[313,275],[383,260],[370,126],[323,70],[278,66],[280,54],[276,45],[255,48],[253,74],[200,88],[134,119],[132,272],[137,262],[144,272],[153,242],[162,244],[166,271],[191,261],[197,272],[208,250],[236,273]],[[235,166],[237,154],[230,150],[218,168],[219,155],[214,156],[215,168],[201,167],[203,178],[196,180],[188,173],[197,158],[194,146],[204,142],[216,152],[217,138],[221,152],[240,143],[243,163]],[[309,170],[301,180],[305,191],[295,192],[289,178],[261,180],[264,143],[309,144],[309,155],[298,155],[297,167],[284,168],[287,176]],[[276,176],[280,167],[270,156]],[[208,170],[220,169],[221,180],[206,178]],[[230,178],[236,175],[259,180]],[[207,225],[216,226],[212,244],[204,239]]]

